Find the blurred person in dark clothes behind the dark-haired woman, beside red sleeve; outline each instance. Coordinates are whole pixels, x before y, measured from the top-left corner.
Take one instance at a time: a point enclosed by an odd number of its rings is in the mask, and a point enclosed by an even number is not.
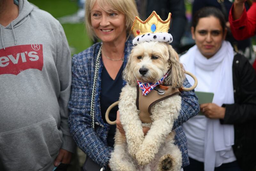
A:
[[[252,0],[248,0],[245,3],[246,10],[249,9],[251,1]],[[230,31],[230,26],[229,26],[229,22],[228,22],[228,14],[229,14],[232,4],[233,4],[232,0],[194,0],[192,14],[194,16],[195,13],[199,9],[206,7],[206,6],[214,6],[218,9],[220,9],[220,11],[224,14],[225,19],[227,21],[226,25],[227,25],[228,32],[227,32],[226,40],[231,43],[231,45],[233,46],[233,48],[236,52],[242,53],[246,58],[248,58],[248,60],[252,64],[255,60],[255,53],[252,49],[251,39],[249,38],[249,39],[244,39],[243,41],[238,41],[233,37],[233,35]]]

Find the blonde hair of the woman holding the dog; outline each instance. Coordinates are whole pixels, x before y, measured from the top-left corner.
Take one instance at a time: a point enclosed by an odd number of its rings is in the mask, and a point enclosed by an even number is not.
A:
[[[112,7],[113,11],[122,12],[125,15],[125,26],[126,26],[126,34],[130,35],[132,33],[131,28],[135,16],[139,16],[136,4],[134,0],[86,0],[85,1],[85,25],[86,31],[90,38],[94,39],[97,37],[92,28],[92,21],[91,21],[91,12],[92,7],[95,2],[98,2],[100,7],[108,12],[104,6],[109,5]]]

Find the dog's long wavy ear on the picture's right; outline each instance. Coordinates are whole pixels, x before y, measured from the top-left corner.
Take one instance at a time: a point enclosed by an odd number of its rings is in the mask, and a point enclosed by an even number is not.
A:
[[[185,70],[183,65],[180,63],[178,53],[172,48],[171,45],[168,46],[169,52],[169,65],[170,71],[166,78],[166,82],[169,83],[172,88],[182,87],[183,81],[185,79]]]

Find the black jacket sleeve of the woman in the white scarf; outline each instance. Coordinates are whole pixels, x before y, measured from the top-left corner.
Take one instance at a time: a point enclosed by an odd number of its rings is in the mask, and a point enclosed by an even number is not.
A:
[[[233,75],[233,82],[237,79],[240,86],[234,87],[236,90],[234,93],[235,103],[222,105],[226,108],[224,119],[220,120],[222,124],[239,124],[256,119],[255,70],[252,68],[247,59],[240,59],[239,63],[234,65],[239,65],[238,67],[233,66],[233,69],[239,68],[235,71],[238,72],[238,74],[235,75],[238,75],[239,78],[236,78],[237,76]]]

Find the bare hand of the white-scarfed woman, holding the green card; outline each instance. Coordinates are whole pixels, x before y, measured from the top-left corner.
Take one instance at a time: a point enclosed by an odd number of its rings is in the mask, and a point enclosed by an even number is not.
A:
[[[220,107],[215,103],[205,103],[200,105],[200,111],[203,112],[207,118],[223,119],[225,116],[226,108]]]

